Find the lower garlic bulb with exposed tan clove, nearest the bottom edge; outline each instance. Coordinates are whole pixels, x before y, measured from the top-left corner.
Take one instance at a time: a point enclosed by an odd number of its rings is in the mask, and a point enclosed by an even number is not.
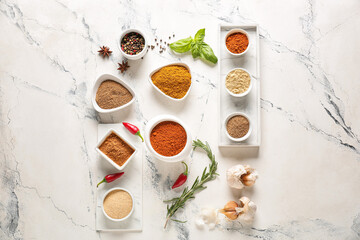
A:
[[[256,205],[247,197],[239,199],[240,204],[235,201],[228,202],[219,212],[224,214],[228,219],[238,219],[240,222],[250,224],[254,221]]]

